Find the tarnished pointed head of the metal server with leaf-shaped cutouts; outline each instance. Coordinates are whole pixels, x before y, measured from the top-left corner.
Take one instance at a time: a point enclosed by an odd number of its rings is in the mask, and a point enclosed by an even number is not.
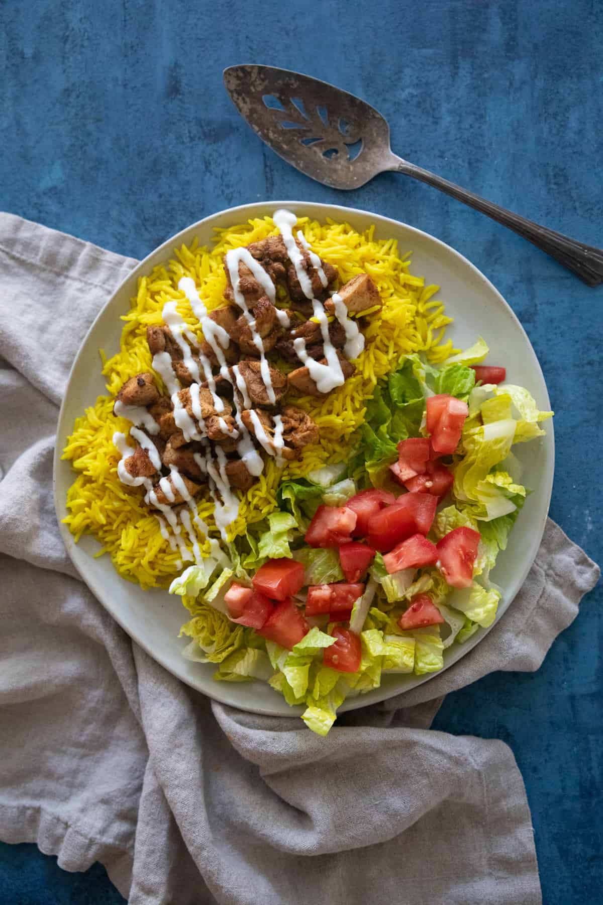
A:
[[[390,127],[353,94],[275,66],[231,66],[224,84],[259,138],[325,186],[358,188],[391,168]]]

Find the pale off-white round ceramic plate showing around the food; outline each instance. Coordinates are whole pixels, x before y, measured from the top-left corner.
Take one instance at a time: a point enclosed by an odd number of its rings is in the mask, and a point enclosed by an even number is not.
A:
[[[191,243],[193,236],[198,236],[201,244],[211,245],[215,227],[224,228],[245,222],[251,217],[272,214],[278,207],[287,207],[298,216],[310,216],[323,222],[327,217],[338,222],[345,221],[359,231],[374,224],[377,238],[397,239],[400,252],[412,252],[411,272],[424,276],[429,283],[441,286],[440,297],[446,303],[447,313],[455,318],[455,323],[448,328],[448,336],[453,338],[455,345],[465,348],[472,345],[479,335],[483,336],[491,349],[489,363],[504,365],[509,383],[519,384],[530,390],[540,408],[550,407],[541,367],[519,320],[492,283],[472,263],[445,243],[388,217],[338,205],[274,201],[232,207],[189,226],[149,254],[108,300],[90,327],[73,363],[59,415],[54,455],[54,499],[60,523],[67,515],[67,491],[76,476],[70,462],[61,460],[61,450],[71,433],[75,418],[99,394],[106,393],[99,369],[99,348],[104,348],[108,357],[118,352],[121,334],[119,316],[128,310],[130,298],[136,295],[138,277],[151,271],[155,264],[167,261],[173,256],[174,246]],[[546,429],[546,437],[517,447],[518,458],[524,466],[522,480],[533,493],[521,511],[509,545],[498,557],[493,573],[497,585],[504,589],[497,620],[522,586],[541,542],[551,499],[554,462],[550,421],[547,422]],[[180,597],[168,595],[164,590],[143,591],[120,578],[108,556],[93,558],[93,554],[99,549],[96,540],[85,537],[81,538],[79,544],[75,544],[71,533],[62,523],[61,534],[75,567],[92,593],[118,624],[165,669],[198,691],[242,710],[278,716],[301,712],[300,708],[288,707],[285,700],[265,682],[213,681],[215,666],[212,663],[184,660],[182,650],[186,640],[179,639],[178,632],[187,613]],[[454,644],[448,648],[444,668],[465,656],[487,631],[488,629],[480,629],[467,643]],[[384,676],[381,688],[345,701],[340,710],[353,710],[385,700],[428,681],[431,675],[438,673],[420,677]]]

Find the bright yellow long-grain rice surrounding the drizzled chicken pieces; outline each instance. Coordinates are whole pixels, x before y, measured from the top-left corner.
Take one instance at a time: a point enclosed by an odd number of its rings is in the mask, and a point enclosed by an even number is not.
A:
[[[305,218],[299,220],[299,228],[314,251],[338,268],[342,282],[362,271],[370,274],[381,293],[383,308],[366,319],[366,347],[356,361],[356,373],[344,386],[323,399],[305,396],[295,401],[318,424],[319,444],[306,447],[302,458],[287,462],[283,470],[274,460],[266,463],[259,481],[241,500],[231,538],[243,534],[247,524],[265,518],[275,508],[280,481],[349,456],[352,434],[363,423],[366,401],[379,378],[396,366],[400,356],[424,350],[429,360],[438,362],[453,351],[451,341],[444,339],[451,319],[445,315],[442,302],[433,299],[439,287],[426,286],[422,277],[410,274],[410,252],[400,254],[393,239],[376,240],[374,227],[357,233],[349,224],[327,220],[321,225]],[[162,538],[159,523],[143,500],[144,491],[129,488],[118,479],[119,456],[112,436],[115,431],[127,433],[129,422],[112,414],[113,397],[128,377],[151,369],[146,328],[162,322],[166,301],[177,300],[184,320],[199,338],[203,337],[189,302],[178,290],[180,278],[193,277],[208,310],[220,307],[226,285],[224,253],[276,232],[271,217],[264,217],[218,231],[212,250],[200,247],[195,238],[189,247],[175,248],[174,258],[167,264],[139,279],[137,296],[122,318],[125,325],[118,354],[106,359],[100,353],[108,395],[99,396],[96,405],[76,420],[65,446],[63,458],[70,459],[79,472],[67,498],[70,514],[65,522],[71,533],[76,540],[82,534],[93,534],[102,545],[97,556],[108,553],[121,576],[143,587],[169,584],[178,572],[179,553]],[[199,500],[199,514],[212,529],[209,492]]]

